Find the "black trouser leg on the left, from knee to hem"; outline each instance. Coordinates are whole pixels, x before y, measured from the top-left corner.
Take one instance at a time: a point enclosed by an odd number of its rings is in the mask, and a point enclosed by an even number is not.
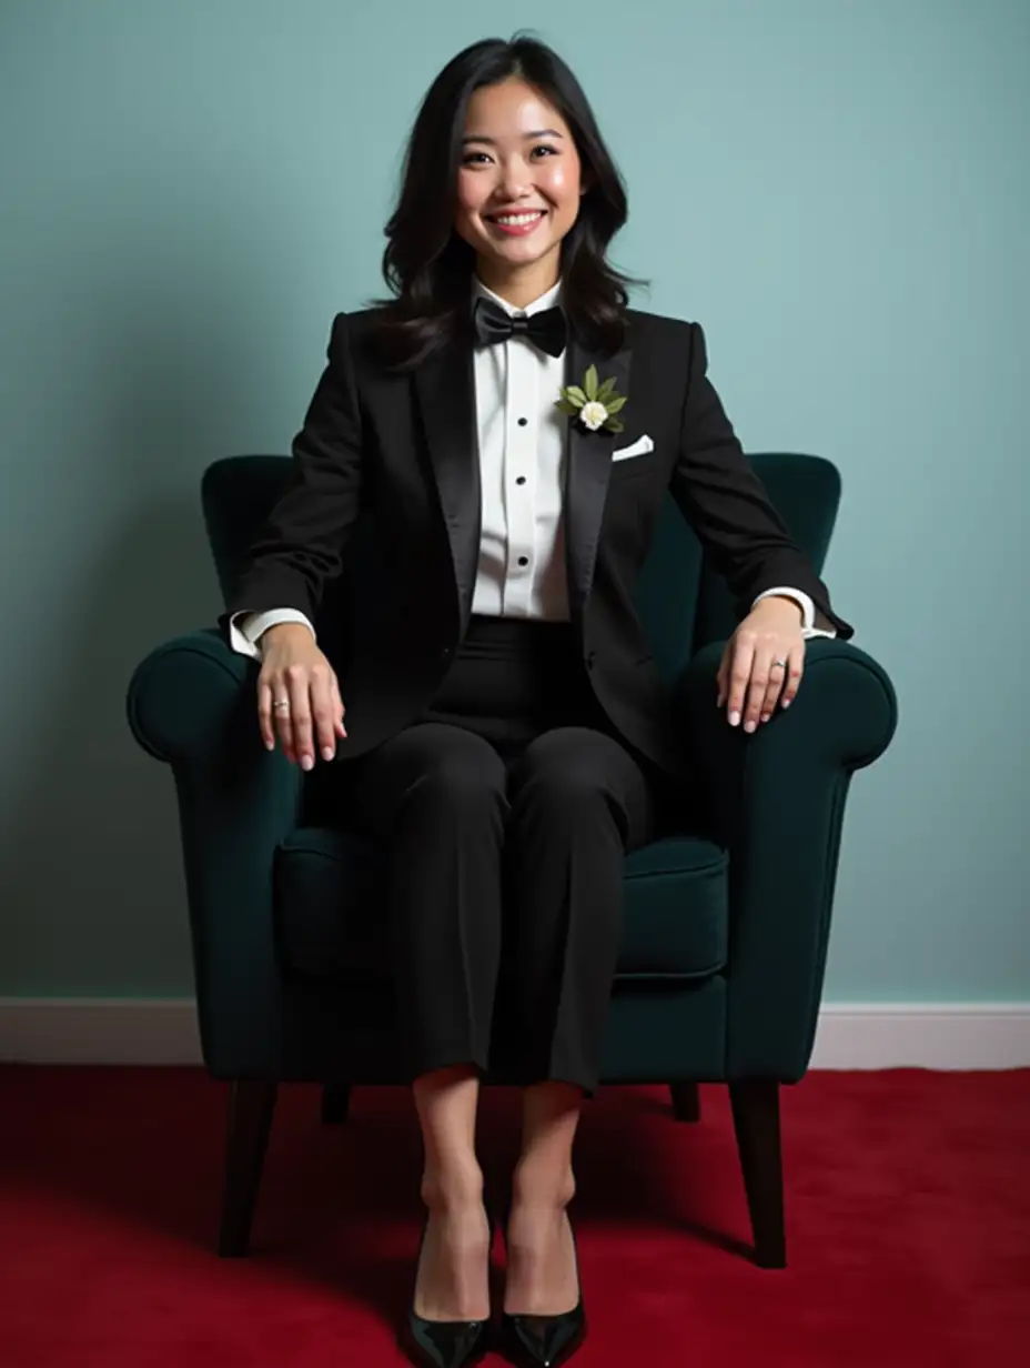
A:
[[[501,956],[505,766],[460,726],[409,726],[356,762],[356,821],[383,839],[409,1078],[487,1068]]]

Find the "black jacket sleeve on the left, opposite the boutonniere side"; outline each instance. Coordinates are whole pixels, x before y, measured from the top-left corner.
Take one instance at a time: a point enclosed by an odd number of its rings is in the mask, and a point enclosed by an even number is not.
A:
[[[361,412],[346,313],[332,321],[327,365],[293,439],[286,488],[248,551],[230,617],[291,607],[313,620],[326,584],[339,575],[361,506]]]

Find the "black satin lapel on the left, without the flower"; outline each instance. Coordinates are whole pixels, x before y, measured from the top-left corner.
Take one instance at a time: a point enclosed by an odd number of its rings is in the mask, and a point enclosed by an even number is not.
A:
[[[468,342],[449,342],[424,361],[414,372],[414,389],[447,527],[464,633],[476,588],[481,517],[476,376]]]

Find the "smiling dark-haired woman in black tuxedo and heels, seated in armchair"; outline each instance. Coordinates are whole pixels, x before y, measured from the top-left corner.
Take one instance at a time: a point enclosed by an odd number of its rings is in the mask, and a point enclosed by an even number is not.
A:
[[[525,1086],[503,1332],[531,1364],[585,1332],[566,1208],[622,859],[689,788],[629,606],[663,491],[740,605],[715,700],[729,725],[788,706],[806,636],[852,635],[740,450],[698,324],[626,308],[605,256],[625,219],[559,57],[528,38],[461,52],[410,137],[386,230],[395,297],[334,320],[290,486],[222,618],[261,659],[265,746],[346,761],[358,818],[390,841],[425,1156],[410,1342],[454,1368],[490,1315],[473,1135],[498,1001]],[[378,581],[336,672],[312,620],[360,510]]]

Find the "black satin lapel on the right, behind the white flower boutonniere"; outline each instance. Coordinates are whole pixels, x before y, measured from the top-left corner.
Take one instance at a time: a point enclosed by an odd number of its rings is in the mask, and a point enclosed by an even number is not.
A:
[[[599,383],[614,375],[616,391],[626,395],[626,405],[618,415],[625,420],[633,404],[629,383],[631,358],[629,339],[614,356],[605,357],[599,352],[590,350],[573,332],[566,349],[565,383],[583,384],[583,376],[591,365],[598,368]],[[569,610],[576,624],[581,624],[594,583],[600,520],[617,435],[603,428],[591,432],[577,419],[569,419],[569,460],[565,469],[565,565]]]

